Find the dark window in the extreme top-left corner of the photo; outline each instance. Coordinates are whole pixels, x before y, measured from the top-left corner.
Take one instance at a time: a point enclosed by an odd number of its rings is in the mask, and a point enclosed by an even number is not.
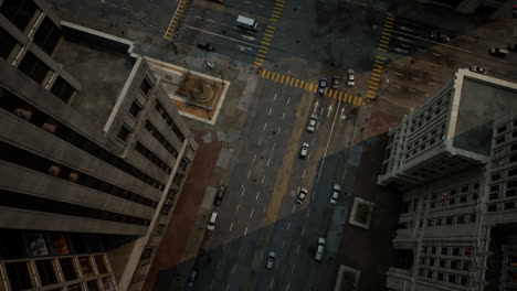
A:
[[[0,13],[12,22],[18,29],[24,31],[38,6],[32,0],[4,0]]]

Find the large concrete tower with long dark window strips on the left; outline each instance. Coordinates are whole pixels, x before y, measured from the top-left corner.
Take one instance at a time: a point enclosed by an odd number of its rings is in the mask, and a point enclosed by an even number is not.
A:
[[[139,290],[197,144],[134,44],[0,0],[0,290]]]

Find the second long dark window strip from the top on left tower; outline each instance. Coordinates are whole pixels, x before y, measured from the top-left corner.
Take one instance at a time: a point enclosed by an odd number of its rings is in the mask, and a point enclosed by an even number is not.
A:
[[[96,191],[101,191],[124,200],[139,203],[148,207],[155,208],[157,204],[152,200],[136,194],[133,191],[119,187],[81,171],[55,163],[49,159],[17,148],[3,141],[0,141],[0,160],[8,161],[41,173],[46,173],[55,177],[67,180],[70,182],[77,183],[80,185],[94,188]]]

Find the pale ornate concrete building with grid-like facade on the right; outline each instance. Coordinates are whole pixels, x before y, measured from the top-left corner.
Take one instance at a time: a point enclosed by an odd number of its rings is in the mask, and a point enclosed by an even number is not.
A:
[[[390,129],[404,205],[390,290],[516,290],[517,84],[460,69]]]

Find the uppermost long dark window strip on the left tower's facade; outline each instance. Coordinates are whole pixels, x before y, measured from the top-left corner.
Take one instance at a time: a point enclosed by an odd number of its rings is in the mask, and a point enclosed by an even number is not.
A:
[[[77,147],[85,152],[103,160],[106,163],[133,175],[134,177],[149,184],[158,190],[163,190],[165,185],[159,181],[152,179],[148,174],[138,170],[134,165],[126,162],[124,159],[116,157],[109,151],[99,147],[97,143],[88,140],[76,131],[72,130],[67,126],[52,119],[49,115],[29,105],[18,96],[0,87],[0,107],[17,115],[18,117],[31,122],[32,125],[43,128],[44,130],[53,133],[55,137]]]

